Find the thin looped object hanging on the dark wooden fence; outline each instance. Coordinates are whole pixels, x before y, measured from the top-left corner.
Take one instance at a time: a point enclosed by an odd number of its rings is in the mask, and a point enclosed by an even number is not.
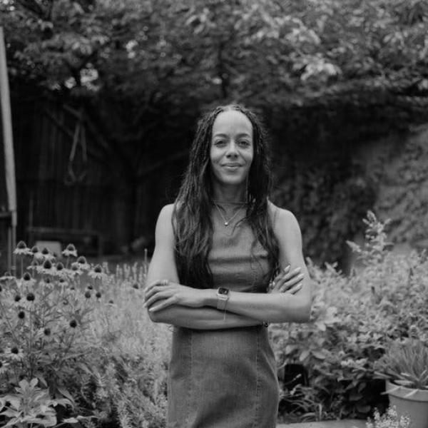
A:
[[[78,167],[76,153],[78,146],[81,146],[81,166]],[[68,156],[67,173],[64,178],[66,185],[82,183],[88,172],[88,154],[86,153],[86,128],[83,121],[83,109],[78,113],[76,127],[73,133],[73,146],[71,146],[70,156]],[[74,165],[74,166],[73,166]],[[78,170],[80,169],[80,170]]]

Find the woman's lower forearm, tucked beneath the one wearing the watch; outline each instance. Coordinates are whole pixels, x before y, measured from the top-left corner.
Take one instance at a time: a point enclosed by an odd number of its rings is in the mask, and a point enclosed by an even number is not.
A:
[[[232,312],[220,311],[212,307],[187,307],[171,305],[163,310],[148,312],[153,322],[164,322],[176,327],[194,328],[196,330],[218,330],[234,327],[250,327],[263,322]]]

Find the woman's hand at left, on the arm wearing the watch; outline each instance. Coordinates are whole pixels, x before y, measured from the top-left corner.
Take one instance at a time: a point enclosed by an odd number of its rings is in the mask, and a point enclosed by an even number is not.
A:
[[[168,280],[157,280],[145,290],[144,307],[150,307],[150,312],[164,309],[170,305],[202,307],[205,302],[204,290],[177,284]],[[157,305],[153,303],[158,302]]]

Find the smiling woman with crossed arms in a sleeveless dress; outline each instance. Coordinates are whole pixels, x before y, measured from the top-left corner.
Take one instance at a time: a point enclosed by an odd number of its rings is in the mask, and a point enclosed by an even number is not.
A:
[[[178,198],[159,214],[147,277],[151,320],[175,326],[168,427],[276,426],[266,324],[307,322],[311,292],[297,220],[269,190],[258,118],[235,105],[206,114]]]

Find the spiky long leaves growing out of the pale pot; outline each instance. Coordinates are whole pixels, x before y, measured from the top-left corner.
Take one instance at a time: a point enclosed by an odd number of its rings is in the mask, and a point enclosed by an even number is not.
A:
[[[428,344],[421,340],[394,341],[374,364],[382,379],[414,389],[428,389]]]

